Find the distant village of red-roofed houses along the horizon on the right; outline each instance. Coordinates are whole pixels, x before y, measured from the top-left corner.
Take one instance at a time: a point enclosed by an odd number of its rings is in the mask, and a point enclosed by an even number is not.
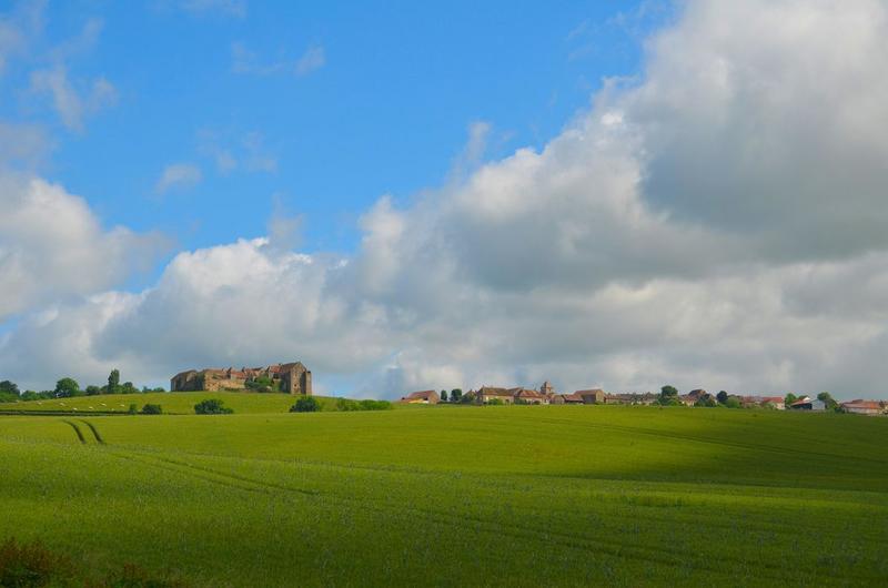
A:
[[[678,394],[673,386],[664,386],[659,394],[644,393],[607,393],[601,388],[579,389],[569,394],[562,394],[548,382],[544,382],[538,389],[514,387],[504,388],[495,386],[481,386],[463,394],[456,388],[436,392],[417,391],[403,396],[402,404],[470,404],[470,405],[660,405],[660,406],[696,406],[727,408],[764,408],[771,410],[799,410],[799,412],[838,412],[859,415],[888,415],[888,402],[855,399],[837,402],[829,393],[820,393],[815,397],[808,395],[796,396],[793,393],[786,396],[755,396],[734,395],[727,392],[710,394],[698,388],[687,394]]]

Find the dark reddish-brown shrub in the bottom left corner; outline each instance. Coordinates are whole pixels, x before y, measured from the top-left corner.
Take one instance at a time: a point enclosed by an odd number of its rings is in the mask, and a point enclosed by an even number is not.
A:
[[[67,585],[72,576],[71,562],[41,544],[9,539],[0,545],[0,586]]]

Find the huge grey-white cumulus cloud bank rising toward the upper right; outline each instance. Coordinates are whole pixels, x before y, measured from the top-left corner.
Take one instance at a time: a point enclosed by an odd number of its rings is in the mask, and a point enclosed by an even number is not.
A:
[[[299,357],[369,395],[548,378],[884,396],[887,37],[875,0],[690,0],[642,75],[542,150],[482,163],[473,126],[471,170],[380,199],[354,255],[184,252],[142,293],[28,318],[0,371],[71,365],[52,354],[73,331],[71,357],[103,371]]]

